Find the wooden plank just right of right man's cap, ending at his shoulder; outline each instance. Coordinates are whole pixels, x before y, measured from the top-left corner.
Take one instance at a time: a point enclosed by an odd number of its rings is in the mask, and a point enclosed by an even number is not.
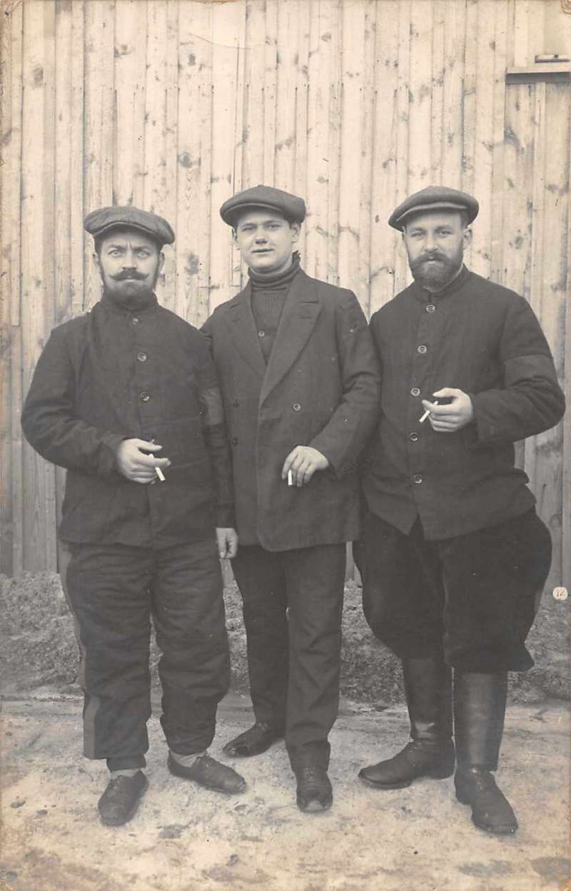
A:
[[[476,118],[471,182],[480,203],[470,255],[470,268],[488,278],[491,271],[494,152],[494,52],[497,0],[479,0],[477,12]]]

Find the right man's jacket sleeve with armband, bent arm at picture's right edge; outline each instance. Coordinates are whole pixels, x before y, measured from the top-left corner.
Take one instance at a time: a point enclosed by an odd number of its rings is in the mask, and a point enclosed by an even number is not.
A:
[[[550,348],[524,298],[518,297],[510,304],[499,358],[504,369],[503,387],[471,396],[476,446],[534,436],[557,424],[565,411]]]

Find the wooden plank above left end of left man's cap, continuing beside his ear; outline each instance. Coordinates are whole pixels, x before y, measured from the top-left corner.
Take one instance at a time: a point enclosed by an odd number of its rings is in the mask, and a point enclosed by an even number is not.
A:
[[[85,6],[84,210],[113,203],[114,3],[89,0]],[[84,239],[84,309],[101,296],[101,278],[93,262],[93,239]]]

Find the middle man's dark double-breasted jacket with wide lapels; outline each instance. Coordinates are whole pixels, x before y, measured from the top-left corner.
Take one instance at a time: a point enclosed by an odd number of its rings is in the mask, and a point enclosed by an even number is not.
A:
[[[266,366],[250,297],[248,284],[202,328],[224,400],[241,544],[287,551],[349,541],[359,533],[356,463],[379,414],[363,310],[352,291],[300,270]],[[300,488],[281,479],[294,446],[330,462]]]

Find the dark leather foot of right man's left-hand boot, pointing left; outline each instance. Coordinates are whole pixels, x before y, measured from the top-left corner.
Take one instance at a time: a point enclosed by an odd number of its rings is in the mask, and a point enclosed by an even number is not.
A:
[[[404,789],[413,780],[430,777],[444,780],[454,772],[454,747],[452,740],[441,745],[412,740],[398,755],[363,767],[359,777],[373,789]]]

